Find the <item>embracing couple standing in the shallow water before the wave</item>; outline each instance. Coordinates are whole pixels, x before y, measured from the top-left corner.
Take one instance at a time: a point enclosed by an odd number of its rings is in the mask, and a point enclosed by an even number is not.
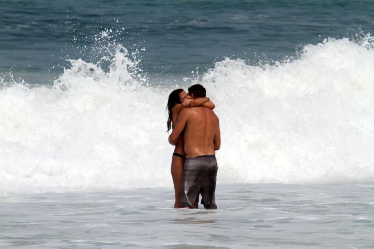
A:
[[[171,160],[174,208],[198,208],[199,195],[206,209],[217,208],[215,151],[221,146],[221,135],[214,107],[199,84],[188,88],[188,94],[176,89],[169,95],[169,143],[175,145]]]

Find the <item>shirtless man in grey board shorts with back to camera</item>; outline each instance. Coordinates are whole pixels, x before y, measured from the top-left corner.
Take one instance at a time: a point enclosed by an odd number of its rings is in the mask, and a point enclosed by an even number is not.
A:
[[[206,89],[199,84],[193,85],[188,88],[188,96],[203,98]],[[178,114],[169,143],[175,145],[183,131],[186,161],[181,183],[182,207],[193,208],[195,199],[201,194],[204,207],[216,209],[214,193],[218,167],[215,151],[221,146],[218,117],[206,107],[184,108]]]

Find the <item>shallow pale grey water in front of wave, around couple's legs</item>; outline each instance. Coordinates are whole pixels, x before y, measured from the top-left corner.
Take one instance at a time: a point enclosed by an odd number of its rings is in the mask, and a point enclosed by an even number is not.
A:
[[[0,247],[373,248],[373,189],[221,184],[218,210],[172,209],[168,188],[2,196]]]

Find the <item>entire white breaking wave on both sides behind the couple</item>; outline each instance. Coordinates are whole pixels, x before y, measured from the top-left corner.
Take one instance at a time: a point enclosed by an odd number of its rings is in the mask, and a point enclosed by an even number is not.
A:
[[[199,80],[216,104],[219,183],[374,179],[374,44],[328,39],[276,66],[226,59]],[[72,60],[53,89],[0,91],[0,193],[171,187],[165,106],[118,47]],[[187,89],[187,83],[180,86]]]

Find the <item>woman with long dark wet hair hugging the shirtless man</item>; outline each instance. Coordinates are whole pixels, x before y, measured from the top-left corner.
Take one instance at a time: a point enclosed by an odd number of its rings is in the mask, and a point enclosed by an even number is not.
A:
[[[183,89],[173,90],[168,98],[168,130],[174,127],[179,112],[183,108],[203,106],[214,109],[215,105],[209,100],[208,97],[199,98],[196,100],[188,99],[187,93]],[[172,125],[173,124],[173,125]],[[185,164],[186,153],[184,149],[183,134],[179,136],[178,142],[175,145],[173,157],[171,159],[171,177],[173,178],[175,190],[175,203],[174,208],[181,207],[181,180],[183,175],[183,167]],[[197,208],[199,197],[195,201],[195,208]]]

